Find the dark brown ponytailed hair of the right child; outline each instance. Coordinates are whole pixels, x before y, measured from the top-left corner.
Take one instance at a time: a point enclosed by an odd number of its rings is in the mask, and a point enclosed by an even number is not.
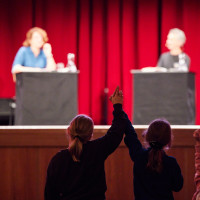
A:
[[[172,131],[167,120],[156,119],[152,121],[145,131],[146,142],[151,147],[148,156],[147,168],[160,173],[163,169],[162,158],[164,147],[171,147]]]

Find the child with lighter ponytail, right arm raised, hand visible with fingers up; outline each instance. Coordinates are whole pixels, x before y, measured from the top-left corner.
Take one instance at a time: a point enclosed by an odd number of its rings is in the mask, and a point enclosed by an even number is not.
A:
[[[47,170],[45,200],[105,200],[104,162],[121,143],[128,125],[119,87],[110,100],[114,118],[105,136],[91,140],[94,123],[86,115],[71,121],[67,129],[69,147],[52,158]]]

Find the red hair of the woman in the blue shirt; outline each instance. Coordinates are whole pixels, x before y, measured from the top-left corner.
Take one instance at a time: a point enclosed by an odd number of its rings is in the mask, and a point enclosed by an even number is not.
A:
[[[32,35],[34,32],[38,32],[41,34],[44,43],[46,43],[48,41],[48,36],[47,36],[47,32],[39,27],[33,27],[31,29],[28,30],[28,32],[26,33],[26,39],[23,42],[23,46],[28,47],[30,46],[30,40],[32,38]]]

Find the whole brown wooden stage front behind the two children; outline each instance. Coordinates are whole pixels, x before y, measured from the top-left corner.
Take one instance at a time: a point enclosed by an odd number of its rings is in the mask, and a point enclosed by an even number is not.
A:
[[[94,138],[103,136],[109,126],[95,126]],[[147,126],[135,126],[139,139]],[[184,187],[176,200],[190,200],[194,185],[193,132],[200,126],[172,126],[175,156],[184,176]],[[0,199],[42,200],[46,169],[51,157],[66,148],[66,126],[0,126]],[[124,142],[106,160],[108,200],[133,200],[133,163]]]

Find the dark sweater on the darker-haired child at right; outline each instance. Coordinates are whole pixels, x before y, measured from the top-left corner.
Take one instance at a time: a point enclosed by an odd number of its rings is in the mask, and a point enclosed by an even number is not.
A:
[[[148,152],[137,138],[131,124],[127,126],[124,141],[134,162],[134,194],[135,200],[173,200],[172,191],[183,187],[181,169],[174,157],[163,156],[163,171],[158,174],[147,169]]]

